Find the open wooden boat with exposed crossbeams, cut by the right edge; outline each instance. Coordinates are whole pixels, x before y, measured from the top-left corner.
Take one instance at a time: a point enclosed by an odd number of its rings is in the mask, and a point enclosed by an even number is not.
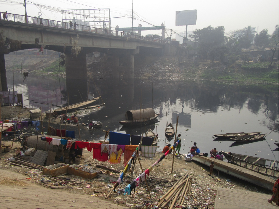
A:
[[[279,162],[276,160],[268,160],[261,157],[253,157],[249,155],[240,155],[231,152],[221,151],[228,162],[247,168],[267,176],[278,177]]]

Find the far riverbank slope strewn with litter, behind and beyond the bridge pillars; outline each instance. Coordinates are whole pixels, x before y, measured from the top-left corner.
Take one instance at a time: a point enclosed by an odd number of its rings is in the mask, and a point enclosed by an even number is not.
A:
[[[27,60],[32,59],[32,62]],[[134,57],[134,77],[150,81],[181,81],[181,80],[204,80],[216,81],[228,84],[264,84],[278,85],[278,62],[269,67],[269,62],[259,63],[221,63],[210,60],[195,61],[182,59],[179,56],[142,56]],[[25,58],[25,62],[33,65],[25,71],[38,75],[48,75],[66,78],[65,66],[59,69],[58,59],[47,59],[48,62],[36,62],[34,58]],[[11,59],[6,59],[7,65],[11,65]],[[119,63],[127,66],[127,60],[121,58]],[[26,65],[28,66],[28,65]],[[26,67],[25,67],[26,68]],[[11,68],[9,70],[12,70]],[[19,68],[15,69],[19,72]],[[87,57],[87,78],[108,79],[113,77],[113,66],[111,57]],[[122,72],[120,78],[125,78]]]

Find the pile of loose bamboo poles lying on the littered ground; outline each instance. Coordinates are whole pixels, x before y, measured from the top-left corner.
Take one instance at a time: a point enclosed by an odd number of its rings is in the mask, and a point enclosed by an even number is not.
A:
[[[184,196],[186,196],[187,192],[190,192],[192,176],[188,175],[188,173],[185,176],[181,176],[170,190],[158,200],[157,207],[161,205],[160,208],[173,208],[177,200],[177,206],[182,206],[185,199]]]

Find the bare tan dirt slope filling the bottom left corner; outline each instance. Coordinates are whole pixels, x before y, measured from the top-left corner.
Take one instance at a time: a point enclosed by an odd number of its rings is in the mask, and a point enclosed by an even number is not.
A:
[[[68,189],[47,189],[12,171],[0,169],[0,176],[0,208],[126,208]]]

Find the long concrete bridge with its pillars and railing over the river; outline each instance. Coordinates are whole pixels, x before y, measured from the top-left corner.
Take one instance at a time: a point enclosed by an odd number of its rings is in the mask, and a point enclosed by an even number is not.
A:
[[[0,72],[1,89],[7,91],[4,54],[22,49],[44,48],[65,54],[66,78],[87,79],[86,54],[103,52],[113,57],[114,78],[125,71],[127,77],[134,78],[134,55],[139,53],[154,55],[173,55],[175,47],[154,41],[144,40],[142,36],[125,37],[118,31],[94,28],[85,25],[71,27],[68,22],[25,17],[8,14],[3,20],[0,12]],[[1,40],[2,38],[2,40]],[[129,58],[127,67],[119,66],[119,56]]]

